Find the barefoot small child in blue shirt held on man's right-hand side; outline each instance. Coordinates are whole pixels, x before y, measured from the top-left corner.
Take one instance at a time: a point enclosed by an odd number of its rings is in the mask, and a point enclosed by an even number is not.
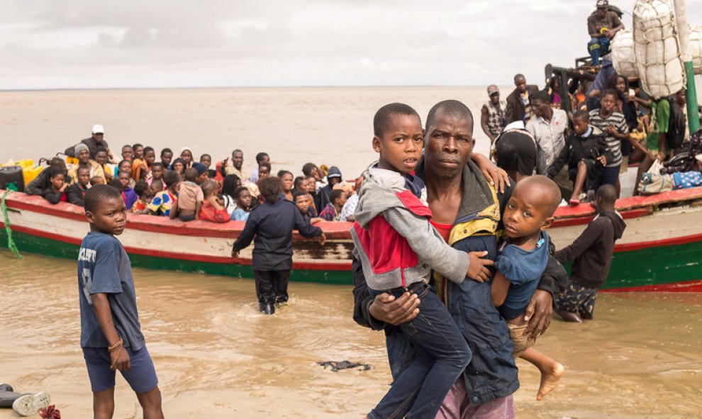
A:
[[[531,347],[536,340],[525,330],[524,309],[536,291],[549,256],[549,237],[545,229],[553,223],[553,213],[561,201],[554,181],[532,176],[520,181],[512,193],[502,222],[507,235],[498,251],[492,280],[492,301],[509,326],[514,357],[531,362],[541,371],[536,399],[541,401],[555,389],[563,366]]]

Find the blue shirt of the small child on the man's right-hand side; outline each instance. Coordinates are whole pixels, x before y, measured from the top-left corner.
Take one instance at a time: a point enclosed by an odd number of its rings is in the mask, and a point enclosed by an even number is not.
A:
[[[498,251],[495,268],[511,283],[499,308],[506,320],[519,317],[534,295],[548,262],[548,243],[548,235],[542,231],[534,250],[507,243]]]

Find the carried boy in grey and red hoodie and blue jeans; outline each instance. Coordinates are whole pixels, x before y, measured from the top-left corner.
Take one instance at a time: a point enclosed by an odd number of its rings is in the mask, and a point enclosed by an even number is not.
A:
[[[363,174],[355,250],[372,296],[409,291],[421,301],[417,318],[400,326],[416,357],[367,418],[434,418],[471,359],[468,343],[428,281],[435,269],[451,281],[486,274],[477,255],[455,250],[430,224],[424,182],[411,172],[422,157],[422,125],[405,104],[380,108],[373,120],[377,164]],[[477,252],[481,254],[481,252]],[[491,264],[491,262],[489,262]],[[484,271],[484,272],[483,272]],[[389,349],[394,335],[387,335]]]

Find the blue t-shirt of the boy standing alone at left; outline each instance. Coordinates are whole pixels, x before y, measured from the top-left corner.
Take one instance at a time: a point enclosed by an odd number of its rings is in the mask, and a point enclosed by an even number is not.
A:
[[[92,294],[107,294],[112,320],[125,347],[144,347],[132,267],[129,257],[113,235],[90,232],[78,254],[78,298],[80,301],[81,347],[108,347],[93,310]]]

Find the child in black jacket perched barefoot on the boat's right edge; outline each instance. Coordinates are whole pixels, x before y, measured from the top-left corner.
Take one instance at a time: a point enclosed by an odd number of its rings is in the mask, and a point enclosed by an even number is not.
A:
[[[565,147],[548,168],[547,177],[553,179],[568,164],[568,177],[573,182],[573,194],[568,203],[578,205],[586,192],[600,177],[603,167],[612,160],[607,150],[607,138],[599,128],[589,125],[590,115],[577,111],[573,116],[574,133],[566,138]]]

